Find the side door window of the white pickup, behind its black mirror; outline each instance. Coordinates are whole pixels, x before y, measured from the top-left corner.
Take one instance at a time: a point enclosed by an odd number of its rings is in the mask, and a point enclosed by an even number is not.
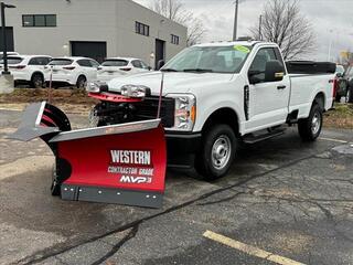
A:
[[[264,47],[257,52],[249,71],[259,72],[259,74],[254,75],[254,77],[259,80],[260,83],[265,82],[266,63],[272,60],[277,60],[272,47]]]

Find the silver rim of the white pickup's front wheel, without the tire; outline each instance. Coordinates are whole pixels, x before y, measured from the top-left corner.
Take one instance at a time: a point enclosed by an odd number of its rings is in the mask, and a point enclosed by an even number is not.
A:
[[[212,147],[212,163],[213,167],[222,170],[226,167],[232,155],[232,144],[229,137],[220,136]]]

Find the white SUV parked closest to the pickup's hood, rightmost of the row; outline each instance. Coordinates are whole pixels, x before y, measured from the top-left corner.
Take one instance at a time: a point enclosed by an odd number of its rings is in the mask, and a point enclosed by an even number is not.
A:
[[[113,78],[150,71],[143,61],[133,57],[106,59],[98,67],[98,81],[108,82]]]

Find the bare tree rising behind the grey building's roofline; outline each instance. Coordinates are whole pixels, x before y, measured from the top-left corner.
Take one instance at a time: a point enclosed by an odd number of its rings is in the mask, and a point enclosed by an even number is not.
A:
[[[150,9],[188,28],[186,44],[191,46],[202,40],[206,32],[202,21],[185,9],[180,0],[150,0]]]

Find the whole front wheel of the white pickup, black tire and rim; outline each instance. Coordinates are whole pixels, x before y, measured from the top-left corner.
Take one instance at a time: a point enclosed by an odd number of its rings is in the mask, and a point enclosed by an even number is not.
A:
[[[205,180],[225,176],[235,158],[236,136],[228,125],[214,125],[203,135],[201,150],[196,153],[195,169]],[[218,155],[218,157],[216,157]]]

